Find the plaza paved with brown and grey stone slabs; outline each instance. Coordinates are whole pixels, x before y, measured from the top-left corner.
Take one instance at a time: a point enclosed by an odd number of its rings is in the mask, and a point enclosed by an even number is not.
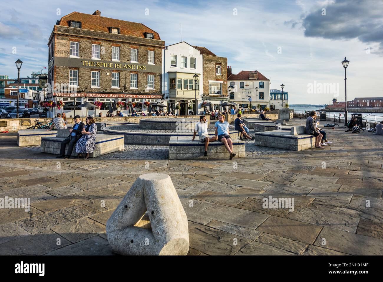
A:
[[[139,175],[158,172],[185,208],[190,255],[383,255],[383,138],[326,132],[324,150],[247,141],[246,158],[232,161],[168,160],[167,146],[128,144],[56,159],[2,134],[0,198],[31,198],[31,210],[0,209],[0,254],[113,255],[106,221]],[[264,208],[269,196],[295,207]]]

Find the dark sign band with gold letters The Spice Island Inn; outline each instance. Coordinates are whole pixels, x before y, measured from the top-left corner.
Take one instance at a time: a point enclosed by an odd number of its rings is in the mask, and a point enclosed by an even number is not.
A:
[[[135,64],[131,62],[112,62],[98,60],[84,60],[67,57],[54,57],[54,65],[62,67],[79,67],[79,68],[98,68],[110,70],[126,70],[126,71],[142,71],[142,72],[158,72],[161,73],[161,66]]]

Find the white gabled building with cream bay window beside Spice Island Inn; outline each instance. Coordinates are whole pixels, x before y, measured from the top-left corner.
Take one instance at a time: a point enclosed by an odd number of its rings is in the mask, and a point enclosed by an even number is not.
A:
[[[193,75],[197,74],[198,83],[195,90]],[[162,51],[162,93],[165,102],[170,101],[172,110],[180,105],[178,115],[187,115],[188,106],[195,108],[195,99],[201,108],[202,54],[185,41],[166,46]]]

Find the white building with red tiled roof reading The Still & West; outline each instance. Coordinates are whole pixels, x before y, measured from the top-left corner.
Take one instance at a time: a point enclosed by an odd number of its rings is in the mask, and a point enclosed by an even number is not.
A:
[[[237,107],[240,109],[249,110],[250,107],[253,109],[257,104],[258,110],[270,108],[270,80],[259,71],[241,71],[232,74],[231,67],[228,67],[228,87],[229,101],[239,104]]]

